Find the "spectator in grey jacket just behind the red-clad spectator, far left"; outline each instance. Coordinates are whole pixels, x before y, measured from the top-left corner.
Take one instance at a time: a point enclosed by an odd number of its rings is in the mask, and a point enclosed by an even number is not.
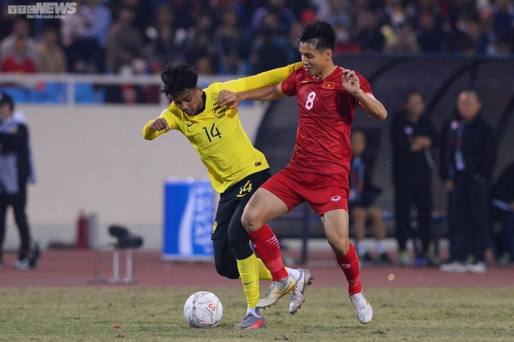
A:
[[[12,15],[12,14],[10,14]],[[19,18],[13,24],[11,34],[2,39],[0,42],[0,61],[7,55],[15,53],[16,44],[19,39],[22,39],[25,44],[25,54],[37,67],[38,66],[38,49],[36,47],[36,40],[30,36],[30,26],[27,19]]]

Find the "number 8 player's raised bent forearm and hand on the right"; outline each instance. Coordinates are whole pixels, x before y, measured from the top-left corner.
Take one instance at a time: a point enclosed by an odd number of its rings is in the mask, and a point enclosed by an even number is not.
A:
[[[372,95],[364,93],[360,89],[359,77],[355,74],[355,71],[343,69],[342,83],[344,90],[352,94],[359,102],[359,105],[374,118],[383,120],[387,117],[386,107]]]

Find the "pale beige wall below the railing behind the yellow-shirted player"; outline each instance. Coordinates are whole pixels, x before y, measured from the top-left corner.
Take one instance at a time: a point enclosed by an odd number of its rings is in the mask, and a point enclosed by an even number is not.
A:
[[[253,141],[266,104],[243,106],[240,117]],[[162,106],[28,106],[16,108],[29,125],[38,182],[28,189],[32,235],[46,248],[73,243],[80,210],[96,214],[98,246],[114,239],[112,224],[142,235],[143,248],[160,250],[163,184],[170,176],[207,177],[196,151],[178,131],[142,138]],[[17,249],[12,212],[4,248]]]

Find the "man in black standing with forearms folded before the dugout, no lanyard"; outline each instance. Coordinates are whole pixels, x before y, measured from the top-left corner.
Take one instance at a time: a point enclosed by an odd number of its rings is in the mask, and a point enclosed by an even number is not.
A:
[[[425,114],[425,99],[419,91],[407,93],[403,109],[393,117],[390,133],[399,262],[411,264],[407,239],[412,236],[416,251],[414,265],[424,266],[437,261],[436,256],[429,253],[429,247],[432,240],[432,169],[435,168],[432,149],[438,146],[438,137]],[[414,209],[421,248],[412,234]]]

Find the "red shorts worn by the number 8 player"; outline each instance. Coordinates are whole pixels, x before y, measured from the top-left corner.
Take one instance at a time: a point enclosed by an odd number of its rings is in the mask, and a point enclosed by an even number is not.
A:
[[[319,216],[335,209],[348,211],[350,187],[344,174],[304,172],[288,165],[261,187],[279,197],[289,210],[307,202]]]

